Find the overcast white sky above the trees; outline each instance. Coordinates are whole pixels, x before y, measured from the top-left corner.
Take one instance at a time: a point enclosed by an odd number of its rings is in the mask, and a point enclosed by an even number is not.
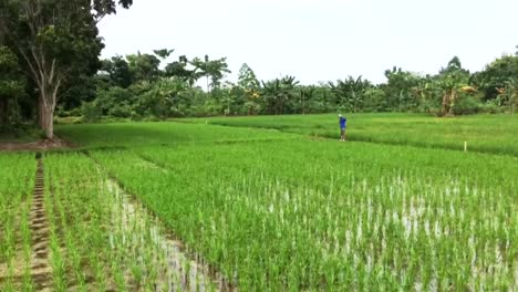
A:
[[[394,65],[436,73],[458,55],[481,70],[518,44],[518,0],[134,0],[100,24],[103,58],[154,49],[227,56],[260,80],[303,84],[363,75],[384,81]]]

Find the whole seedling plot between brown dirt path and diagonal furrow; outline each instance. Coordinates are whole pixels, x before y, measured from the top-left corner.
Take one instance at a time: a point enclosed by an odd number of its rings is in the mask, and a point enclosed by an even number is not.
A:
[[[217,289],[92,159],[48,155],[45,178],[53,290]]]

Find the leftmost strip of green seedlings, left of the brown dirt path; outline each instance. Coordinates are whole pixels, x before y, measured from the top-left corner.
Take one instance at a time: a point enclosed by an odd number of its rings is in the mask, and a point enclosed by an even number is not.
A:
[[[35,160],[29,154],[0,155],[0,290],[31,290],[29,209]]]

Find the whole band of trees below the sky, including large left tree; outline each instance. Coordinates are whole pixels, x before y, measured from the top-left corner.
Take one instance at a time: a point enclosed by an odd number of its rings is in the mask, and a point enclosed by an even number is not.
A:
[[[262,81],[244,64],[236,83],[226,58],[174,50],[100,60],[97,23],[132,0],[0,0],[0,127],[33,122],[53,138],[55,116],[165,119],[182,116],[423,112],[438,116],[510,112],[518,105],[518,55],[480,72],[453,58],[436,74],[393,67],[386,81],[362,76],[302,85]],[[173,62],[168,60],[175,60]]]

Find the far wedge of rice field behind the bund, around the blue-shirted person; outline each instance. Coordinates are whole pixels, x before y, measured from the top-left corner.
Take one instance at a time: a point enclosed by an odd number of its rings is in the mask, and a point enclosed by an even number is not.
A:
[[[348,139],[424,148],[447,148],[518,156],[516,115],[469,115],[450,118],[424,114],[346,114]],[[339,139],[338,117],[324,115],[278,115],[247,117],[180,118],[183,123],[277,129]],[[210,126],[209,125],[209,126]]]

